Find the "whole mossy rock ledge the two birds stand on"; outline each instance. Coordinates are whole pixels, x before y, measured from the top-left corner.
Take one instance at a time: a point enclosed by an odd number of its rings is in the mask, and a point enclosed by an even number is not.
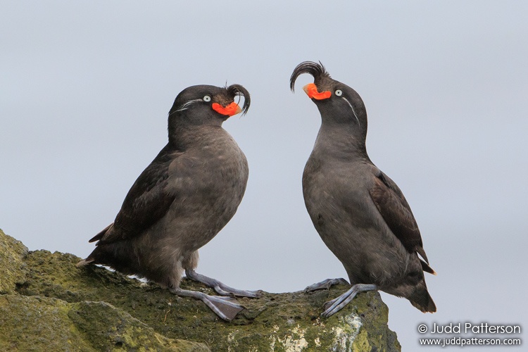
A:
[[[237,298],[220,320],[180,298],[68,253],[27,251],[0,230],[0,351],[400,351],[377,292],[359,294],[330,318],[325,301],[346,285],[304,294]],[[213,291],[182,280],[182,288]]]

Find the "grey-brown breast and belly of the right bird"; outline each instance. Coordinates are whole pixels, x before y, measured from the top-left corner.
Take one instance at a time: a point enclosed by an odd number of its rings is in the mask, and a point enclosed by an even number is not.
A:
[[[344,264],[349,278],[379,284],[384,277],[399,275],[391,270],[398,271],[401,265],[391,263],[405,261],[406,256],[370,198],[367,166],[310,157],[303,173],[303,195],[315,229]]]

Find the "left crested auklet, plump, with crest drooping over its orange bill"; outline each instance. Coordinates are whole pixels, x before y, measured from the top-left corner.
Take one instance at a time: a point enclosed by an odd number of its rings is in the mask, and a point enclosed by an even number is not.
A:
[[[237,96],[244,98],[242,108]],[[195,271],[198,249],[231,220],[246,190],[246,156],[222,122],[244,115],[250,103],[240,84],[182,90],[168,114],[168,144],[134,182],[114,222],[89,240],[96,247],[77,266],[106,265],[157,282],[177,296],[200,299],[226,321],[244,309],[234,296],[260,296]],[[220,296],[181,289],[183,272]]]

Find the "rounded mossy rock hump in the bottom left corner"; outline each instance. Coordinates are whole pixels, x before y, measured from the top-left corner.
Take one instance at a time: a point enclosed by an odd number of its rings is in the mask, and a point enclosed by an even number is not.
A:
[[[1,351],[209,351],[168,339],[104,302],[0,296]]]

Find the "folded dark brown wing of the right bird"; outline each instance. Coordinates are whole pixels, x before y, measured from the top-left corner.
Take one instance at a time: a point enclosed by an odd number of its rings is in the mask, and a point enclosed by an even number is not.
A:
[[[403,196],[396,183],[382,171],[379,171],[375,177],[374,187],[369,189],[369,192],[386,225],[398,237],[403,246],[410,252],[419,253],[425,262],[429,264],[416,220],[405,196]]]

